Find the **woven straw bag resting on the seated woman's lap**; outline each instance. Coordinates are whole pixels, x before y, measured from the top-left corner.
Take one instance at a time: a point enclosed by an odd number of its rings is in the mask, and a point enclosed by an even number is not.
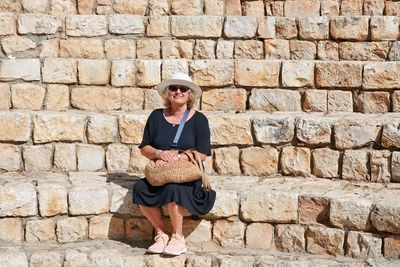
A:
[[[182,154],[188,157],[187,161],[172,161],[159,166],[154,161],[150,161],[144,169],[144,174],[149,183],[153,186],[162,186],[168,183],[192,182],[201,178],[203,188],[211,190],[198,152],[190,149],[182,152]]]

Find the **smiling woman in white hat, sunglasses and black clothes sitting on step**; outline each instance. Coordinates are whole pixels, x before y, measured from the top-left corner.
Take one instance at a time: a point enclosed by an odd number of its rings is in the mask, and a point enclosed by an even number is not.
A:
[[[202,90],[184,73],[173,74],[171,79],[161,82],[157,90],[166,107],[150,114],[139,145],[142,155],[154,160],[156,164],[188,160],[183,153],[176,156],[171,151],[171,143],[185,111],[189,109],[177,149],[195,149],[204,161],[211,155],[210,129],[207,118],[193,108]],[[152,186],[144,178],[136,183],[133,198],[156,231],[155,243],[148,248],[148,252],[180,255],[186,251],[182,235],[184,210],[187,209],[193,215],[208,213],[215,202],[215,191],[204,190],[201,179],[189,183]],[[165,231],[162,219],[160,207],[164,205],[171,219],[171,238]]]

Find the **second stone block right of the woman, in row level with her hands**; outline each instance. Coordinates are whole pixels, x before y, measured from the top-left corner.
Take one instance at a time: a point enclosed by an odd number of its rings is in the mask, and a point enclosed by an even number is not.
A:
[[[279,152],[271,146],[241,150],[240,165],[245,175],[267,176],[278,171]]]

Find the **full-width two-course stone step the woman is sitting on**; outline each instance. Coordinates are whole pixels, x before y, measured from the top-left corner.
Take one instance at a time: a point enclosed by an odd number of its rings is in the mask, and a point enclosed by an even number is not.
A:
[[[22,245],[149,241],[153,229],[132,204],[139,177],[2,174],[0,240]],[[210,181],[217,191],[215,206],[201,218],[186,214],[188,242],[360,259],[400,256],[398,184],[255,176],[212,176]]]

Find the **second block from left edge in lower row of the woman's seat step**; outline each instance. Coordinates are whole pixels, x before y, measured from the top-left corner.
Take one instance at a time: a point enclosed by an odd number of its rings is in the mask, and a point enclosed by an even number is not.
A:
[[[26,242],[41,242],[56,239],[54,218],[31,220],[26,222]]]

